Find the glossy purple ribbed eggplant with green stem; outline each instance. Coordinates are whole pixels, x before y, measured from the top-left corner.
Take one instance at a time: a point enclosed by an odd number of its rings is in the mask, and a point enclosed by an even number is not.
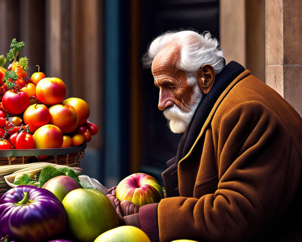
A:
[[[39,242],[65,231],[63,204],[53,193],[31,185],[10,189],[0,199],[0,238]]]

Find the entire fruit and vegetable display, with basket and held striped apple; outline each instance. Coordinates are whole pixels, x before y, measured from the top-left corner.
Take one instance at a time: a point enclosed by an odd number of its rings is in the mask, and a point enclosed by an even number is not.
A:
[[[87,143],[98,133],[89,106],[65,99],[63,80],[39,67],[29,78],[28,59],[18,58],[23,47],[13,39],[0,55],[0,242],[150,242],[139,228],[121,226],[110,198],[138,211],[164,197],[161,186],[137,173],[108,190],[81,175]]]

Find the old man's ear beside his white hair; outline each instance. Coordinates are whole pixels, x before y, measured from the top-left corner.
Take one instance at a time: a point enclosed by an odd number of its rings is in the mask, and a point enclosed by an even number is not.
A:
[[[208,94],[214,84],[215,71],[211,65],[203,65],[196,71],[198,86],[204,94]]]

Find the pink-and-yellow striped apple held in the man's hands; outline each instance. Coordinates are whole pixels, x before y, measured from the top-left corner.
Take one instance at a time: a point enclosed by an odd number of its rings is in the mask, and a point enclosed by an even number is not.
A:
[[[164,197],[162,187],[155,178],[144,173],[135,173],[117,185],[116,197],[133,202],[137,207],[159,202]]]

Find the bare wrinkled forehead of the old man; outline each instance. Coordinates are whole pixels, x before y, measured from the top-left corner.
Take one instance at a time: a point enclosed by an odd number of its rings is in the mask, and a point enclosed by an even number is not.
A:
[[[179,58],[180,47],[178,45],[170,44],[165,46],[153,59],[151,66],[153,76],[164,70],[175,71]]]

